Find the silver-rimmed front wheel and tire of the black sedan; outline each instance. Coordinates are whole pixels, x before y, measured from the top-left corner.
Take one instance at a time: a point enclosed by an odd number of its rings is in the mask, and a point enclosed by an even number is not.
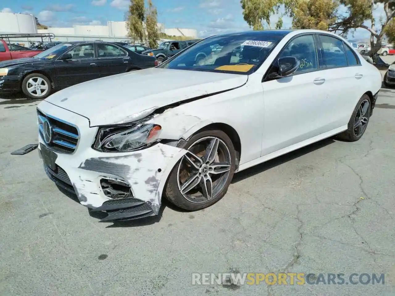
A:
[[[30,99],[44,99],[52,92],[51,82],[40,73],[32,73],[23,79],[22,91]]]

